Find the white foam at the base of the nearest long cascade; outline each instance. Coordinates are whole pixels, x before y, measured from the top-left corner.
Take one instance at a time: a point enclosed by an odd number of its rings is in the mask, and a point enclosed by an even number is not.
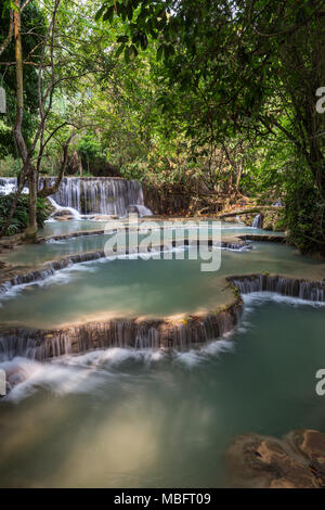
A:
[[[63,356],[47,362],[23,357],[0,362],[6,372],[11,391],[4,400],[18,403],[38,391],[54,395],[92,394],[116,379],[128,378],[128,371],[141,364],[156,370],[157,364],[171,364],[192,369],[208,358],[220,359],[220,355],[233,352],[234,344],[218,340],[197,349],[181,353],[173,349],[134,349],[113,347],[93,350],[78,356]]]

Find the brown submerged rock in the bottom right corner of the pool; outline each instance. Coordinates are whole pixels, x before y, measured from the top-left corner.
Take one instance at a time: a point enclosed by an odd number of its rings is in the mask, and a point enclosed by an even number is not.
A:
[[[302,429],[285,438],[245,434],[225,456],[232,485],[264,488],[325,487],[325,434]]]

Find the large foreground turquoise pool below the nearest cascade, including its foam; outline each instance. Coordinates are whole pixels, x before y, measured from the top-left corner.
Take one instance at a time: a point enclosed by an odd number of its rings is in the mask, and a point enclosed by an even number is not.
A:
[[[323,430],[324,308],[246,302],[237,331],[197,350],[9,362],[26,381],[1,401],[0,485],[222,487],[236,435]]]

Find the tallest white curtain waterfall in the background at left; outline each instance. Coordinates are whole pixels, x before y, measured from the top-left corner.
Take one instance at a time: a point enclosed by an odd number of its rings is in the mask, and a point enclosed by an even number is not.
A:
[[[54,183],[54,177],[41,177],[39,188],[44,183]],[[17,186],[16,178],[0,179],[0,195],[12,193]],[[28,193],[28,189],[24,190]],[[60,211],[68,209],[79,215],[102,214],[127,216],[134,208],[140,216],[150,216],[152,212],[145,207],[140,182],[118,177],[64,177],[58,191],[50,199],[52,205]]]

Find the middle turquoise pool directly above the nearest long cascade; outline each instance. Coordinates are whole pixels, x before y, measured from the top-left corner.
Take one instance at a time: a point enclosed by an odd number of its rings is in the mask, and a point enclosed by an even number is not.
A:
[[[324,264],[290,246],[252,247],[219,251],[217,272],[202,272],[203,260],[190,260],[186,250],[172,253],[171,260],[131,255],[72,265],[46,280],[12,288],[1,297],[0,322],[48,329],[98,319],[213,311],[232,296],[224,276],[269,271],[322,279],[325,273]],[[185,258],[177,259],[181,255]]]

